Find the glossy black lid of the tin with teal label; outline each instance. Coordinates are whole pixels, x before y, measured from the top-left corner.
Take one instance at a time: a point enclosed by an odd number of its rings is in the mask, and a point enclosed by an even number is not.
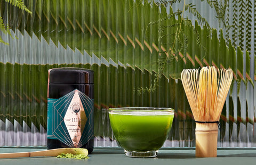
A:
[[[54,68],[49,72],[49,83],[58,84],[93,84],[93,71],[76,68],[76,67],[62,67]]]

